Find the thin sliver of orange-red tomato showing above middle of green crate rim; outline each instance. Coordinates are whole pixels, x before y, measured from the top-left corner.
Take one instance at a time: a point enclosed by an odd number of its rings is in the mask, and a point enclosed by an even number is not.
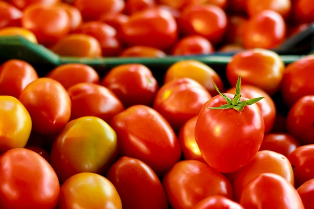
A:
[[[154,47],[132,46],[128,47],[119,55],[120,57],[166,57],[167,54]]]

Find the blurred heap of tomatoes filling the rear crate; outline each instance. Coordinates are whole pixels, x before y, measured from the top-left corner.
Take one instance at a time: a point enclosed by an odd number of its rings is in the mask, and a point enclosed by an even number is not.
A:
[[[8,0],[0,35],[61,56],[211,54],[274,49],[314,22],[313,11],[310,0]]]

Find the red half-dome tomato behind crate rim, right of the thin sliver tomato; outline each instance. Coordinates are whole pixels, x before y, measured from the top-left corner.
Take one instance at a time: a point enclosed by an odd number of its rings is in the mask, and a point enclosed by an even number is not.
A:
[[[203,36],[186,36],[178,40],[172,49],[172,55],[206,55],[215,51],[210,41]]]

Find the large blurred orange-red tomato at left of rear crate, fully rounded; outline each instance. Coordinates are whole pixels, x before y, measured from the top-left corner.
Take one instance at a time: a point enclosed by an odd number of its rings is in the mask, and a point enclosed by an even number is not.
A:
[[[70,18],[62,7],[34,4],[23,12],[22,27],[32,31],[38,43],[46,47],[51,47],[70,32]]]

